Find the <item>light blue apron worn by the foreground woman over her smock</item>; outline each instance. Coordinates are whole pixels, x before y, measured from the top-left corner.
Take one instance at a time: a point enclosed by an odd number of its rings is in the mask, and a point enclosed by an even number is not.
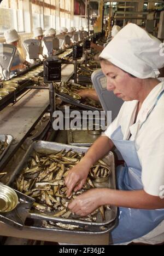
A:
[[[145,121],[147,121],[148,116],[153,111],[163,93],[164,90],[157,97]],[[143,189],[141,180],[142,167],[138,159],[135,141],[123,140],[121,126],[113,132],[111,139],[125,161],[125,166],[118,166],[116,169],[118,189]],[[142,237],[159,225],[163,219],[164,209],[145,210],[119,207],[119,225],[112,231],[113,243],[125,243]]]

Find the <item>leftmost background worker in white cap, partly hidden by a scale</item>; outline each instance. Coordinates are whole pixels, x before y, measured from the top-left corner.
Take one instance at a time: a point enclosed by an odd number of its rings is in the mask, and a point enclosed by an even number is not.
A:
[[[9,29],[7,31],[4,32],[4,38],[5,38],[5,42],[7,44],[11,44],[14,45],[17,48],[16,51],[16,55],[14,57],[13,60],[13,64],[11,66],[11,75],[14,74],[14,72],[25,69],[26,65],[29,65],[29,63],[27,61],[25,61],[24,57],[20,54],[19,52],[19,35],[16,32],[15,29]]]

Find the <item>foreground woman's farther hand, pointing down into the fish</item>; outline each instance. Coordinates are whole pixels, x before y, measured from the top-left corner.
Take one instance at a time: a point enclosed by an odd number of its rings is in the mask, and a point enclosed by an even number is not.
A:
[[[88,164],[85,164],[84,161],[81,161],[75,167],[69,170],[65,179],[65,184],[67,186],[67,197],[71,195],[73,189],[76,192],[80,190],[81,187],[83,187],[87,179],[89,170],[90,167],[88,166]]]

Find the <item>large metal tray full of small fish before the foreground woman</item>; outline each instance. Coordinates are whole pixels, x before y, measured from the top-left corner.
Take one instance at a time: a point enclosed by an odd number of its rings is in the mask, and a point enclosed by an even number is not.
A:
[[[8,185],[11,184],[14,189],[36,200],[31,209],[31,218],[80,227],[87,225],[88,230],[90,226],[95,226],[99,230],[100,226],[109,225],[116,219],[117,207],[114,206],[101,206],[83,218],[67,208],[68,203],[76,196],[94,187],[115,189],[114,156],[109,152],[103,160],[99,160],[96,166],[92,167],[83,188],[72,192],[71,197],[66,197],[65,177],[87,149],[48,141],[36,141],[29,147],[19,166],[10,176]],[[106,172],[105,169],[110,170],[108,180],[96,182],[92,179],[97,174],[106,177],[109,171]]]

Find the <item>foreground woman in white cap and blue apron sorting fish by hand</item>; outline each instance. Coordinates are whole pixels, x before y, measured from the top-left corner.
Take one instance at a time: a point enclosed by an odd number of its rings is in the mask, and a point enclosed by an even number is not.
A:
[[[120,47],[121,41],[121,47]],[[89,169],[115,145],[124,158],[116,170],[118,190],[92,189],[68,208],[85,216],[101,205],[119,207],[113,243],[164,241],[164,66],[160,41],[135,24],[126,25],[104,48],[101,67],[107,89],[123,99],[118,117],[72,168],[67,196],[85,184]]]

